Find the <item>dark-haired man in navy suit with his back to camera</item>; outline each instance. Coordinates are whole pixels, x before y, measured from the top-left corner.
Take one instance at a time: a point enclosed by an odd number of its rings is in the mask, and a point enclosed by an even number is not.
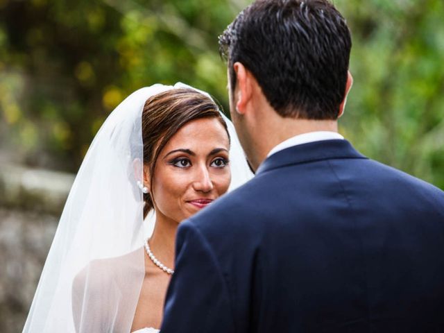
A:
[[[256,176],[182,223],[162,333],[444,332],[444,193],[337,133],[350,32],[257,0],[220,38]]]

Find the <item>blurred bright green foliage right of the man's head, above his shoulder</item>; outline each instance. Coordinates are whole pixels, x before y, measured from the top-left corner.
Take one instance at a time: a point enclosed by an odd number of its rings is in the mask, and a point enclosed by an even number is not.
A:
[[[354,43],[343,133],[366,155],[444,189],[444,2],[336,2]]]

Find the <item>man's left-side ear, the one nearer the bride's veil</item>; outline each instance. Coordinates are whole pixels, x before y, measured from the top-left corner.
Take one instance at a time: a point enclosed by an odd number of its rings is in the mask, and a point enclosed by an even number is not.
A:
[[[234,72],[236,73],[236,88],[234,89],[234,108],[239,114],[245,114],[246,106],[250,102],[253,91],[252,74],[241,62],[234,62]]]

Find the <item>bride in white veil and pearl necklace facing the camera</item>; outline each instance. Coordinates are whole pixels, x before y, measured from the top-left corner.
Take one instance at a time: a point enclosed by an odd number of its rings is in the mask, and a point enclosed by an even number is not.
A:
[[[206,93],[128,96],[78,171],[23,332],[157,332],[178,223],[252,176]]]

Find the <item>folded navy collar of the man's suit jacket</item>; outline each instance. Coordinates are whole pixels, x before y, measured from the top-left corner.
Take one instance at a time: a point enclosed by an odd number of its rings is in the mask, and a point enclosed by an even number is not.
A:
[[[267,157],[256,171],[256,174],[271,169],[287,167],[288,165],[316,162],[321,160],[332,160],[337,158],[362,158],[361,155],[347,140],[334,139],[308,144],[300,144],[286,148],[278,153]]]

